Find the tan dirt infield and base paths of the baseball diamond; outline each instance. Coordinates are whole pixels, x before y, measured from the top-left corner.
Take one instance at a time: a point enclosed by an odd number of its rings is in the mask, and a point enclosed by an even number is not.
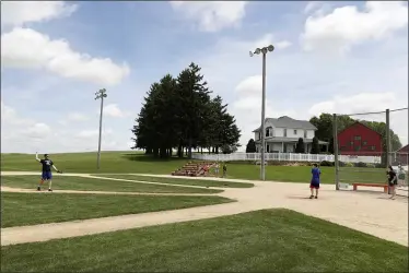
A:
[[[37,175],[37,173],[34,174]],[[10,171],[1,175],[33,175],[33,173]],[[84,174],[66,176],[89,177],[89,175]],[[323,185],[319,199],[309,200],[307,199],[309,195],[308,187],[303,183],[225,180],[252,182],[255,187],[245,189],[229,188],[223,189],[224,191],[221,193],[212,194],[234,199],[237,201],[235,203],[2,228],[1,245],[47,241],[50,239],[225,216],[262,209],[285,207],[408,246],[407,198],[397,198],[393,201],[388,200],[387,194],[376,190],[371,192],[336,191],[334,186]],[[44,230],[47,230],[47,233],[44,233]]]

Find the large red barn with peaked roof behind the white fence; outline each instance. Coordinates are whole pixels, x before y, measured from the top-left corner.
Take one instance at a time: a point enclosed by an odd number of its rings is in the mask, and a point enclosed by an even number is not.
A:
[[[341,155],[381,156],[382,135],[357,121],[338,133],[338,147]]]

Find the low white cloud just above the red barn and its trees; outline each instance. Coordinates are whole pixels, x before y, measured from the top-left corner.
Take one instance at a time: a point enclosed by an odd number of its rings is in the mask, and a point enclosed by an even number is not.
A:
[[[313,105],[308,114],[319,116],[322,112],[329,114],[364,114],[378,112],[386,109],[400,109],[408,107],[408,98],[398,97],[394,92],[385,93],[359,93],[350,96],[336,95],[332,99],[324,100]],[[386,122],[386,112],[350,116],[353,119]],[[408,110],[394,111],[389,114],[390,129],[399,135],[402,144],[408,143]]]

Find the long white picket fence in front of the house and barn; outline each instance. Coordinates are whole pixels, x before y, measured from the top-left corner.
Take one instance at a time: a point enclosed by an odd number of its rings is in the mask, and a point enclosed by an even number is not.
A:
[[[210,162],[261,161],[260,153],[234,154],[192,154],[192,158]],[[266,161],[279,162],[334,162],[334,155],[325,154],[293,154],[293,153],[266,153]],[[381,163],[381,156],[348,156],[340,155],[339,161],[349,163]]]

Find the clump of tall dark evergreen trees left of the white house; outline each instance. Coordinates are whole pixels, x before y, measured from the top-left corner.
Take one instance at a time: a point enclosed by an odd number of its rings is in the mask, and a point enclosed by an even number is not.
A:
[[[208,149],[209,153],[232,153],[239,146],[241,131],[220,96],[211,97],[200,68],[190,63],[175,79],[165,75],[153,83],[132,129],[135,149],[155,157],[170,157],[177,147]]]

